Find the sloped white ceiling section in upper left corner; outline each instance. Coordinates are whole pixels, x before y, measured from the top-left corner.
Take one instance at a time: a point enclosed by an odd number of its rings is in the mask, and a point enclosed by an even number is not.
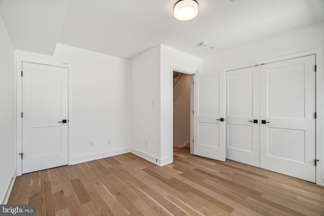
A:
[[[68,0],[1,0],[2,17],[17,50],[53,55]]]

